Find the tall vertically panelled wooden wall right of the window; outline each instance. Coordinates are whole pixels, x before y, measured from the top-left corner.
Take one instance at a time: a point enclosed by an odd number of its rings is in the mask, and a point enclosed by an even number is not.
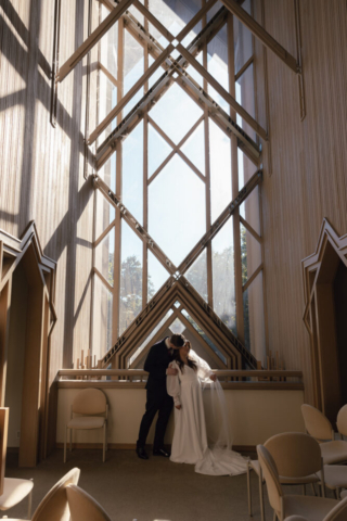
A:
[[[314,252],[323,217],[347,233],[347,3],[299,0],[306,117],[298,80],[271,51],[256,45],[258,119],[265,144],[262,212],[269,348],[287,369],[303,369],[312,401],[309,335],[304,327],[301,259]],[[295,58],[294,0],[255,0],[255,17]],[[268,97],[269,118],[267,118]]]

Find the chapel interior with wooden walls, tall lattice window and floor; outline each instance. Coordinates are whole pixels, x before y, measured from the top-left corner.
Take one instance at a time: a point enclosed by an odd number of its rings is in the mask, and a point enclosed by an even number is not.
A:
[[[303,404],[337,439],[346,27],[342,0],[0,1],[0,493],[34,478],[34,512],[77,467],[113,521],[262,519],[255,473],[250,518],[245,475],[136,456],[143,365],[174,333],[243,455],[307,432]],[[64,463],[85,389],[108,404],[105,462],[81,430]]]

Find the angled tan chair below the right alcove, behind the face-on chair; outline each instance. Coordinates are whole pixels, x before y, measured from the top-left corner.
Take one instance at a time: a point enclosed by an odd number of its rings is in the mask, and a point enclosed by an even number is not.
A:
[[[333,427],[323,412],[307,404],[301,405],[301,412],[307,432],[320,443],[324,465],[347,461],[347,442],[334,439]]]

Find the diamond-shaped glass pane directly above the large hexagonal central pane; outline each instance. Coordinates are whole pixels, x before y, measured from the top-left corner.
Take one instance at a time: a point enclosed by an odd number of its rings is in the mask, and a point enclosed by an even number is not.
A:
[[[151,117],[177,144],[202,116],[203,111],[176,82],[154,105]]]

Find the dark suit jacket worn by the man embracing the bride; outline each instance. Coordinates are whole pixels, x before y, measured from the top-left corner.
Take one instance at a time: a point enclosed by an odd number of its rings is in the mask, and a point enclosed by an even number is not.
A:
[[[144,363],[143,369],[150,373],[145,386],[149,391],[166,393],[166,369],[172,361],[172,355],[165,344],[166,339],[168,336],[152,345]]]

